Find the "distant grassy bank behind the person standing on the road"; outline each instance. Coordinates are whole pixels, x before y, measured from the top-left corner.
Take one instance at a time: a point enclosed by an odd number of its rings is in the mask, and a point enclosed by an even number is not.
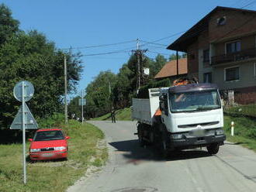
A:
[[[98,118],[92,118],[94,121],[111,121],[111,114],[102,115]],[[116,121],[131,121],[131,108],[122,108],[116,111]]]

